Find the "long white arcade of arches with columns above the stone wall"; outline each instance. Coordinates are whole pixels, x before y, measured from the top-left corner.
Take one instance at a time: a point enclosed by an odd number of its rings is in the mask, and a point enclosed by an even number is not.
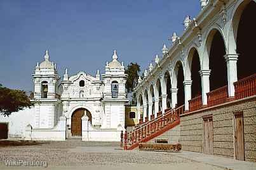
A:
[[[147,121],[183,105],[185,111],[191,111],[194,101],[198,108],[219,104],[216,93],[223,95],[225,102],[234,100],[234,83],[256,73],[252,43],[256,39],[252,25],[255,9],[255,1],[237,1],[233,9],[227,9],[232,11],[226,13],[225,20],[202,26],[193,23],[192,29],[185,30],[191,32],[190,37],[179,39],[179,43],[172,37],[172,50],[163,50],[162,62],[156,60],[149,68],[151,74],[135,88],[138,117]],[[192,33],[196,29],[201,30],[199,43],[197,33]]]

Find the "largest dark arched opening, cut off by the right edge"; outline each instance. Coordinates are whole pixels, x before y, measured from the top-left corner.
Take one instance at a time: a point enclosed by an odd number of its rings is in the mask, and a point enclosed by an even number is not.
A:
[[[253,16],[256,16],[256,3],[251,1],[248,3],[239,20],[237,38],[236,38],[236,52],[238,57],[238,80],[245,78],[246,76],[256,73],[256,59],[255,59],[255,43],[252,43],[256,39],[255,21]]]

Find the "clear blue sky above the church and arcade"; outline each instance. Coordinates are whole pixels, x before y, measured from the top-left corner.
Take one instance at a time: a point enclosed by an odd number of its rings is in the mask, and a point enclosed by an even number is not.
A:
[[[161,54],[185,15],[197,16],[199,0],[0,1],[0,83],[34,90],[31,74],[49,49],[58,74],[65,68],[103,73],[112,51],[125,65],[145,68]]]

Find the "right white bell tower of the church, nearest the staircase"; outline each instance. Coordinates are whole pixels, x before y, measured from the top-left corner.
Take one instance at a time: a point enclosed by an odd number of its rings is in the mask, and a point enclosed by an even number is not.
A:
[[[125,129],[125,103],[129,101],[125,94],[126,78],[125,66],[123,62],[119,63],[118,54],[114,51],[112,61],[107,62],[105,74],[102,75],[105,107],[105,121],[102,128],[118,131]]]

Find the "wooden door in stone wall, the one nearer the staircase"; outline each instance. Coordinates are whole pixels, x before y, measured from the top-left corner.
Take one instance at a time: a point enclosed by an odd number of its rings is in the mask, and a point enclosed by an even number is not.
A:
[[[203,117],[203,153],[213,155],[213,119]]]

